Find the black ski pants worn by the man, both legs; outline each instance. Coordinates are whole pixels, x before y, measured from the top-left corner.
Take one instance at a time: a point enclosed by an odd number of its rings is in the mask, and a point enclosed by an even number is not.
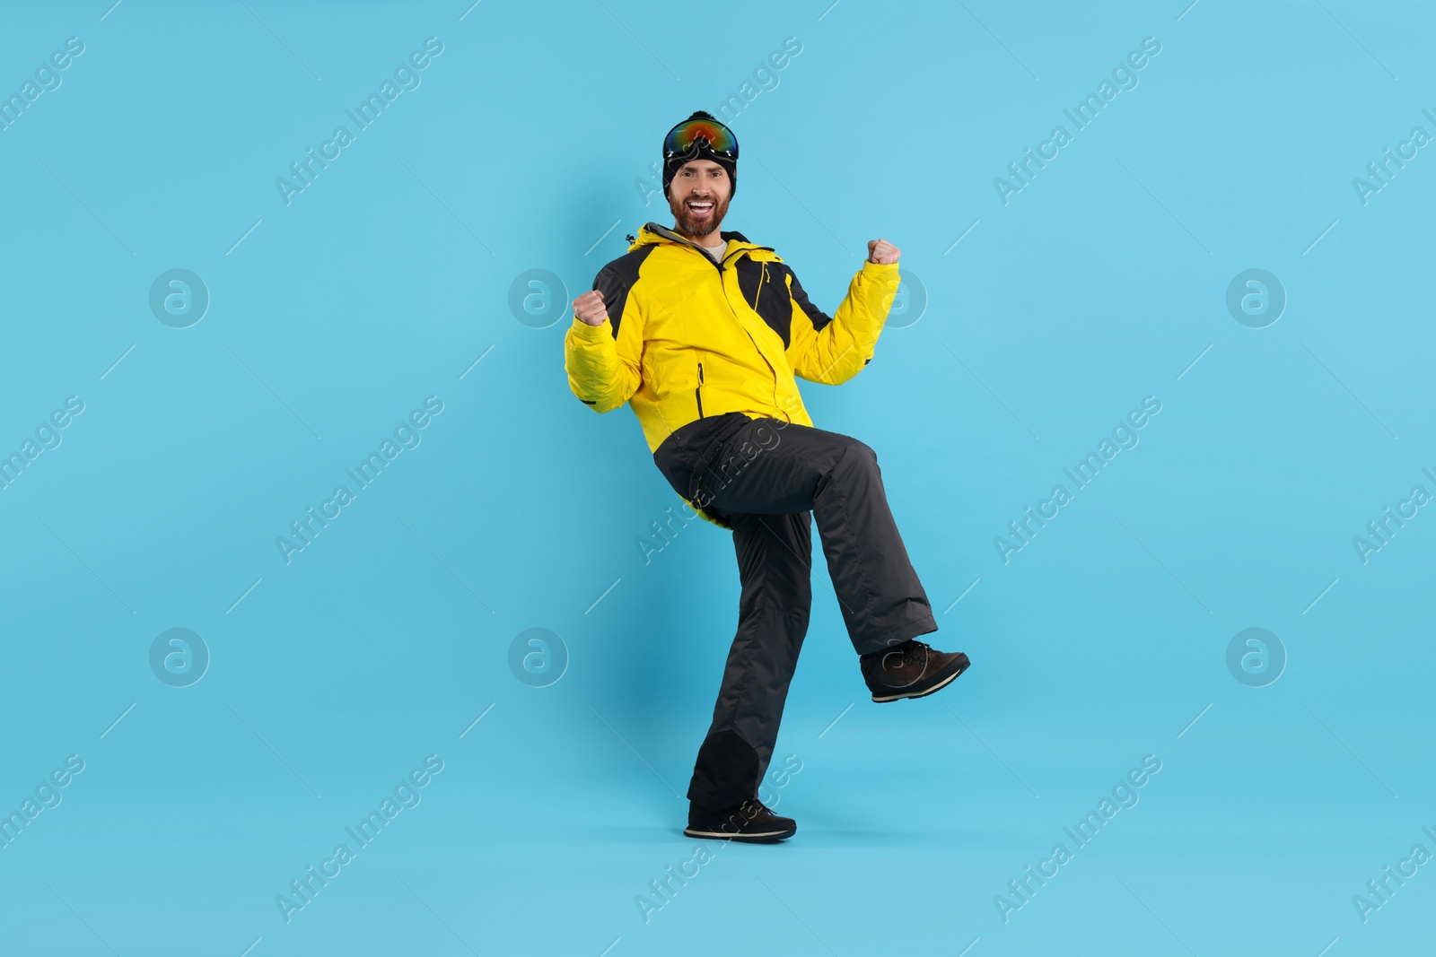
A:
[[[699,419],[655,452],[684,498],[732,524],[738,557],[738,631],[688,786],[714,811],[757,796],[773,759],[813,604],[814,518],[857,654],[938,630],[872,448],[778,419],[724,419],[717,432]]]

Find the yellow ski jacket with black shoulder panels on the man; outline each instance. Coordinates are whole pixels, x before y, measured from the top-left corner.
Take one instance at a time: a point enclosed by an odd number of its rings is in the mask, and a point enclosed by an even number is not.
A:
[[[645,224],[593,280],[607,317],[589,326],[574,316],[564,336],[569,389],[595,412],[629,403],[649,452],[684,425],[729,412],[811,426],[796,379],[836,386],[862,372],[898,293],[898,264],[864,260],[827,316],[771,247],[719,235],[722,263]]]

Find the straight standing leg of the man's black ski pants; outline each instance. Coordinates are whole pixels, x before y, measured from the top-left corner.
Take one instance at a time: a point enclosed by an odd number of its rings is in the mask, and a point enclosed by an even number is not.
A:
[[[732,544],[742,583],[738,634],[688,785],[689,801],[714,811],[758,793],[813,607],[808,512],[734,515]]]

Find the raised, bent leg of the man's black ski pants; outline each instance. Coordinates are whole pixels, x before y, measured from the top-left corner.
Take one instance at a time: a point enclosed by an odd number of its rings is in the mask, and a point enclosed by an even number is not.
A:
[[[857,439],[754,419],[698,476],[696,501],[728,517],[811,509],[859,654],[938,630],[887,506],[877,453]]]

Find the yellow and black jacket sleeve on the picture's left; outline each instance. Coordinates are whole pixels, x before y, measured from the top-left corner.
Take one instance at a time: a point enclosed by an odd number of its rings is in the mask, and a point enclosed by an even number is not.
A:
[[[563,337],[563,367],[569,389],[595,412],[612,412],[642,383],[643,313],[630,287],[609,267],[593,280],[603,293],[607,316],[589,326],[577,316]]]

